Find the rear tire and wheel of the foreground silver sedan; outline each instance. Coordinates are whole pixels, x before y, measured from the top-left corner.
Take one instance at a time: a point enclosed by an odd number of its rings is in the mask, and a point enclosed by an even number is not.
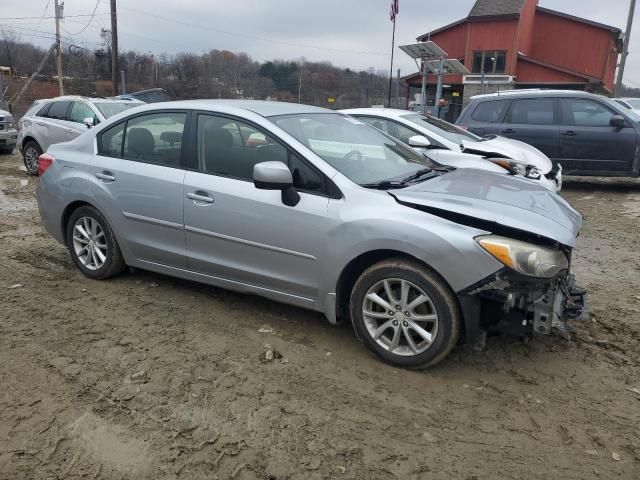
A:
[[[77,225],[82,228],[76,229]],[[73,263],[87,277],[104,280],[122,273],[126,268],[111,226],[95,208],[83,206],[75,210],[66,229],[69,254]]]

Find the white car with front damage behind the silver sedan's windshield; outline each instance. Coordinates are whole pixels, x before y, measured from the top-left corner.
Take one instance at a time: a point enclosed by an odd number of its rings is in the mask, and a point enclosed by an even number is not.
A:
[[[427,152],[443,165],[480,168],[496,173],[520,175],[555,192],[562,188],[562,169],[522,142],[504,137],[481,138],[444,120],[407,110],[354,108],[341,110],[392,137]]]

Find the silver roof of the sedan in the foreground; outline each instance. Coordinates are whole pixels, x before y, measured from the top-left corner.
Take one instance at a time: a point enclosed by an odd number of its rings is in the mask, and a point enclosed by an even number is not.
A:
[[[237,109],[256,113],[262,117],[277,115],[296,115],[305,113],[335,113],[333,110],[312,107],[299,103],[270,102],[267,100],[177,100],[172,102],[147,103],[144,110],[166,110],[172,108],[189,108],[193,110],[215,110],[216,107]],[[139,110],[142,111],[142,110]]]

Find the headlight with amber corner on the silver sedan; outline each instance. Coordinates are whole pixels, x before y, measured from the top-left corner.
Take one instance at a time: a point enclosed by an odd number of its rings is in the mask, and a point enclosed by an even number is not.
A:
[[[500,263],[529,277],[552,278],[569,268],[569,260],[561,250],[497,235],[477,237],[476,242]]]

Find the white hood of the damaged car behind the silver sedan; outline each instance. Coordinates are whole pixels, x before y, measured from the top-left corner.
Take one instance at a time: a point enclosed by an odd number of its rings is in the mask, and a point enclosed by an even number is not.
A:
[[[509,158],[522,165],[536,167],[546,175],[553,163],[544,153],[531,145],[510,138],[495,137],[482,142],[462,141],[464,153],[475,153],[485,157]]]

